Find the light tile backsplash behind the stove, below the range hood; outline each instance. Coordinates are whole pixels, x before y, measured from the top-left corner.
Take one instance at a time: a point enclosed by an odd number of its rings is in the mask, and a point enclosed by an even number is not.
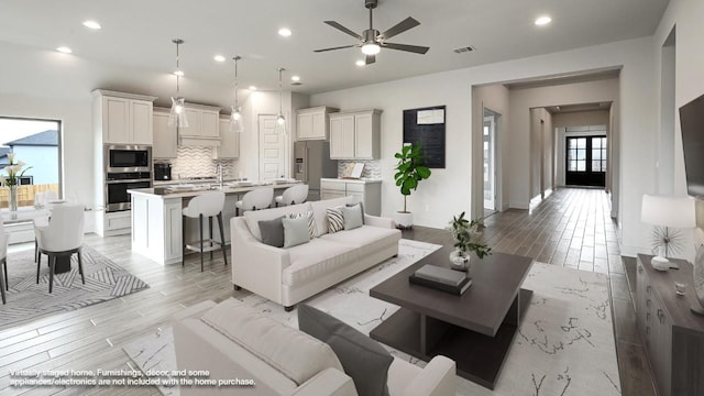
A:
[[[179,146],[170,161],[172,178],[215,177],[216,165],[222,164],[224,178],[233,178],[235,160],[212,160],[212,147]]]

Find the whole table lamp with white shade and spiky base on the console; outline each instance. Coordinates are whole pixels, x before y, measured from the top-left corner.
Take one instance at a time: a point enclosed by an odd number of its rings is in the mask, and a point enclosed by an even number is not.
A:
[[[645,223],[656,226],[652,234],[652,245],[657,255],[652,257],[650,264],[658,271],[678,268],[676,264],[670,263],[667,258],[669,254],[675,253],[683,248],[683,235],[680,230],[696,227],[694,198],[644,195],[640,220]]]

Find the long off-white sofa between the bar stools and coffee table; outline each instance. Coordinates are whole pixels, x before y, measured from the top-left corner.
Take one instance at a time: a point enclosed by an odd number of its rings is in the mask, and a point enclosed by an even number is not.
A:
[[[327,208],[353,197],[248,211],[230,222],[232,283],[283,305],[297,302],[398,254],[400,231],[391,219],[364,215],[361,228],[328,233]],[[258,221],[312,211],[317,238],[289,249],[260,242]]]

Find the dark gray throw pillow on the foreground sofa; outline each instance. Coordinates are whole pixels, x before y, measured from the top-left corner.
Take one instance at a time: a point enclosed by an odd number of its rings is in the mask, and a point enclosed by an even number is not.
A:
[[[298,306],[298,328],[327,343],[352,377],[360,396],[387,396],[394,358],[378,342],[308,305]]]

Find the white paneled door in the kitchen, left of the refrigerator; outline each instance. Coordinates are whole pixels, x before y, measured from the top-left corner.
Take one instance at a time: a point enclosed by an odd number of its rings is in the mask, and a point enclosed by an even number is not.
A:
[[[260,180],[286,176],[286,134],[276,131],[276,116],[260,116]]]

